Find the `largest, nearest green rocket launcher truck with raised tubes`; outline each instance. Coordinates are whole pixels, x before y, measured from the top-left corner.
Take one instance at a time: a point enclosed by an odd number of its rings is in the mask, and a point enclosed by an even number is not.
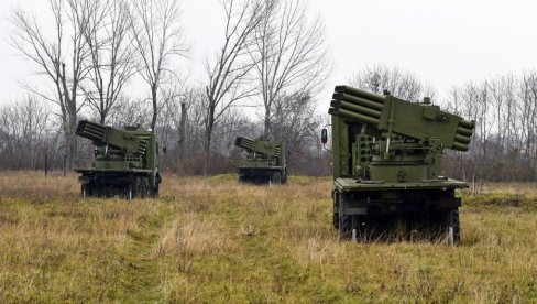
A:
[[[463,182],[442,172],[442,151],[468,151],[474,121],[424,102],[337,86],[330,102],[333,227],[341,239],[419,232],[460,242]],[[327,142],[327,130],[321,133]]]

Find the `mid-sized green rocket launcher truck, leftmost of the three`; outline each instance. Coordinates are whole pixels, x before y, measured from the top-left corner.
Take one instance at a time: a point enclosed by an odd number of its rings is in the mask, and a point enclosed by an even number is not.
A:
[[[80,173],[83,197],[120,195],[129,200],[134,197],[157,197],[158,146],[153,132],[138,126],[118,130],[87,120],[78,122],[76,134],[92,140],[91,167],[77,169]]]

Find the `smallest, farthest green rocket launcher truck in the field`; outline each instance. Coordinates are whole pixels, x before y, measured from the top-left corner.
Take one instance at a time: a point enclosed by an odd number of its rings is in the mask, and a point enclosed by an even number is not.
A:
[[[239,166],[239,182],[253,184],[287,182],[285,143],[238,137],[235,145],[248,152],[246,162]]]

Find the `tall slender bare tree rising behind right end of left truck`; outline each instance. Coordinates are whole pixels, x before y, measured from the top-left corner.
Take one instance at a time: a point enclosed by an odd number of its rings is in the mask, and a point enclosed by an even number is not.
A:
[[[188,46],[183,39],[178,1],[133,0],[130,3],[130,28],[140,55],[139,72],[151,91],[151,129],[154,130],[161,107],[158,94],[162,93],[162,85],[174,80],[172,61],[177,56],[186,56]]]

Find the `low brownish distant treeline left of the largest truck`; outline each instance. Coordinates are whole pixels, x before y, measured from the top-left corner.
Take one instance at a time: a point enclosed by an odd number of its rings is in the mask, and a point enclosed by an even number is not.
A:
[[[193,96],[191,98],[196,98]],[[186,109],[185,137],[180,144],[180,105],[167,102],[161,111],[155,132],[161,148],[161,169],[168,173],[186,175],[218,174],[235,172],[235,166],[244,159],[244,152],[234,146],[238,135],[256,138],[263,134],[260,123],[250,121],[241,111],[229,111],[222,123],[215,129],[210,154],[210,166],[205,172],[205,123],[204,108],[189,102]],[[109,123],[123,126],[140,124],[149,129],[150,109],[139,102],[123,102],[122,111]],[[304,109],[304,108],[303,108]],[[293,119],[275,120],[274,134],[287,143],[288,166],[293,174],[327,175],[330,173],[326,151],[318,141],[319,121],[314,108],[294,112]],[[89,140],[77,139],[78,152],[75,167],[88,166],[92,160],[92,144]],[[325,151],[325,152],[324,152]],[[63,170],[65,146],[62,141],[61,122],[50,107],[26,97],[12,105],[0,107],[0,170],[44,170],[45,154],[50,170]]]

